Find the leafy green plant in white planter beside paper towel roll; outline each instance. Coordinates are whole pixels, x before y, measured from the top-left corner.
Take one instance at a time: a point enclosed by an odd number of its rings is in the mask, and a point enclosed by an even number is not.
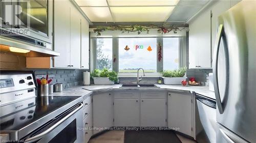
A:
[[[115,71],[104,68],[103,70],[95,69],[91,73],[94,84],[114,84],[118,77]]]

